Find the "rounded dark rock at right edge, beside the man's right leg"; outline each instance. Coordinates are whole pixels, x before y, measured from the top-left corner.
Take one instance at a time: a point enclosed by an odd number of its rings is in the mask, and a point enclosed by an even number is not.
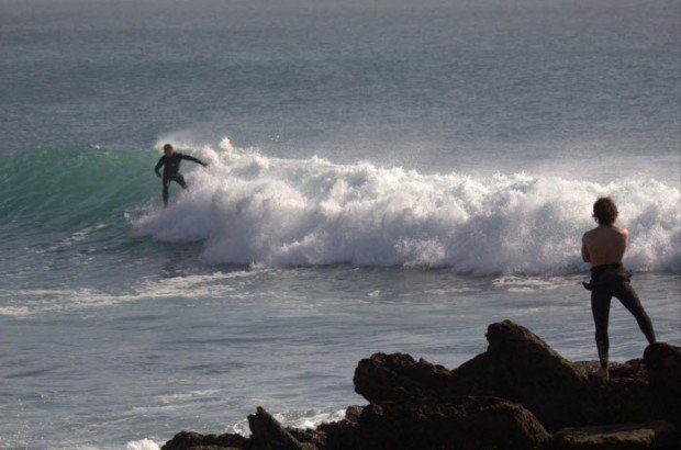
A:
[[[652,344],[644,351],[644,361],[657,409],[681,429],[681,348]]]

